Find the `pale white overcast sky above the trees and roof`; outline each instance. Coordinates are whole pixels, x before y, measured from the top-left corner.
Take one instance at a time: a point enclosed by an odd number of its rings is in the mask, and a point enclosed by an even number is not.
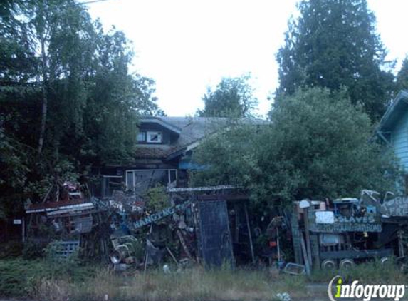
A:
[[[81,0],[84,1],[84,0]],[[81,2],[80,1],[80,2]],[[276,52],[283,45],[296,0],[107,0],[87,4],[105,29],[133,41],[131,71],[155,80],[167,116],[193,116],[202,96],[222,77],[251,73],[258,116],[271,108],[278,86]],[[408,53],[408,1],[368,0],[377,31],[399,68]],[[269,100],[268,100],[269,99]]]

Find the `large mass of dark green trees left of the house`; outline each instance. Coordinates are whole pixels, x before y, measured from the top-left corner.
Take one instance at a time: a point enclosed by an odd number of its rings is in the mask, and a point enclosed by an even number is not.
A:
[[[0,217],[6,218],[10,200],[40,200],[58,180],[76,181],[90,165],[131,160],[139,116],[163,112],[152,96],[154,81],[129,72],[131,42],[114,28],[104,31],[86,6],[7,0],[0,19]]]

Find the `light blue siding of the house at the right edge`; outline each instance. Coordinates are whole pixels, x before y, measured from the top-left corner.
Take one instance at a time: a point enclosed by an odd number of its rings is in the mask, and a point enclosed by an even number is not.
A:
[[[408,173],[408,114],[404,114],[394,126],[391,133],[391,142],[402,168]]]

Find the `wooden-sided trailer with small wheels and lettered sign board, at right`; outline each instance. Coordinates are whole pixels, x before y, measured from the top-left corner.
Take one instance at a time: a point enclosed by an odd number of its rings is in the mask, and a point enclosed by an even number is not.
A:
[[[360,199],[293,202],[291,232],[295,262],[310,269],[347,268],[377,258],[401,255],[399,228],[384,218],[375,192]]]

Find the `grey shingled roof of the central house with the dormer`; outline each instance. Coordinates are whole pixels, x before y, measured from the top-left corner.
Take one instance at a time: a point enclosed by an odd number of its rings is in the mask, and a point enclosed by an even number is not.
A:
[[[179,137],[170,145],[140,144],[137,146],[137,158],[164,158],[171,160],[194,148],[202,138],[211,135],[230,124],[229,118],[222,117],[145,117],[142,122],[159,123],[170,131],[179,131]],[[244,123],[267,124],[261,119],[241,119]]]

